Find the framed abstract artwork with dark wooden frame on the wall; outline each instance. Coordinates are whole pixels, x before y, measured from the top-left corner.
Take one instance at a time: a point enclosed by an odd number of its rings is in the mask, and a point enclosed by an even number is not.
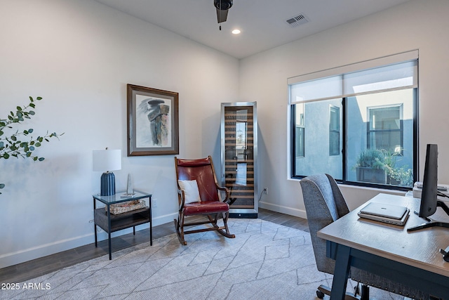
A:
[[[178,93],[127,85],[128,156],[179,154]]]

